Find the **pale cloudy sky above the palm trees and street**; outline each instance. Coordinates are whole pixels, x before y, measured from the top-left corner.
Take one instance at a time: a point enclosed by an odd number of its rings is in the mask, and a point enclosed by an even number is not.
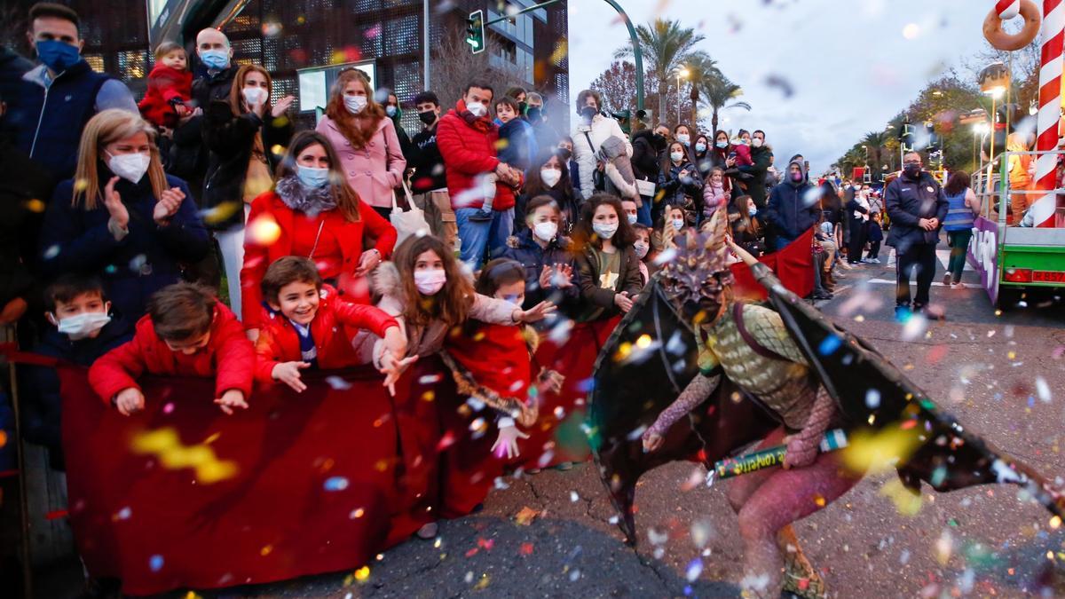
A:
[[[634,23],[658,16],[704,35],[700,49],[742,85],[752,106],[721,113],[728,120],[719,125],[765,129],[777,161],[801,152],[816,173],[865,132],[883,128],[931,78],[980,51],[983,19],[994,6],[990,0],[620,3]],[[628,43],[628,32],[606,2],[571,1],[569,11],[570,97],[576,98]],[[791,97],[773,79],[788,82]]]

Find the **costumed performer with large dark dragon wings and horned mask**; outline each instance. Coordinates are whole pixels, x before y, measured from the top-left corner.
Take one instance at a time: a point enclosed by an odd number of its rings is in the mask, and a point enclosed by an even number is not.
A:
[[[588,433],[619,524],[636,543],[639,476],[668,462],[711,467],[756,443],[786,446],[783,468],[731,482],[728,501],[744,545],[744,596],[823,597],[791,523],[822,509],[864,475],[839,452],[820,453],[824,433],[854,440],[890,436],[889,463],[903,485],[945,491],[1013,483],[1052,514],[1065,501],[1043,476],[969,433],[864,341],[788,291],[769,269],[726,239],[717,211],[621,322],[600,354]],[[766,304],[732,297],[730,249],[768,291]],[[712,476],[711,472],[711,476]]]

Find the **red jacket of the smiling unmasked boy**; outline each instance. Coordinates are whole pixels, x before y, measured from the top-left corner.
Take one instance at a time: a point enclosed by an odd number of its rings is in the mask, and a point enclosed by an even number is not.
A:
[[[322,288],[318,311],[311,321],[311,338],[317,347],[318,368],[323,370],[345,368],[360,363],[351,347],[351,334],[346,327],[364,328],[378,337],[399,323],[383,310],[373,306],[344,302],[337,290]],[[351,331],[354,333],[354,331]],[[289,319],[280,312],[269,312],[259,329],[256,341],[256,381],[273,383],[274,367],[279,362],[300,360],[299,335]]]

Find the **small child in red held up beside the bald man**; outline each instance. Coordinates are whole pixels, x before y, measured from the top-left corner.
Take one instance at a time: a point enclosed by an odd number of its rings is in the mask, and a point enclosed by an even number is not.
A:
[[[175,42],[155,48],[155,66],[148,74],[148,92],[137,104],[145,119],[155,127],[174,129],[178,119],[190,114],[193,74],[185,49]]]

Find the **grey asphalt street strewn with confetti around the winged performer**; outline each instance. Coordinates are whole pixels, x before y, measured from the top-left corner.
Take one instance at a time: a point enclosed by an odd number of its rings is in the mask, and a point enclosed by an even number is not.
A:
[[[943,272],[940,263],[936,280]],[[964,280],[973,276],[966,272]],[[819,308],[870,341],[970,431],[1051,479],[1065,473],[1065,307],[996,315],[981,289],[936,286],[933,302],[946,320],[906,328],[892,319],[894,279],[886,259],[850,271]],[[584,464],[508,476],[482,512],[443,522],[437,540],[384,552],[368,576],[347,571],[209,596],[736,597],[736,517],[726,483],[707,488],[704,472],[675,463],[641,480],[635,549],[611,523],[594,466]],[[925,487],[919,511],[903,514],[889,497],[895,480],[867,476],[796,525],[833,596],[1065,595],[1065,567],[1056,563],[1065,560],[1065,534],[1016,487],[943,495]]]

